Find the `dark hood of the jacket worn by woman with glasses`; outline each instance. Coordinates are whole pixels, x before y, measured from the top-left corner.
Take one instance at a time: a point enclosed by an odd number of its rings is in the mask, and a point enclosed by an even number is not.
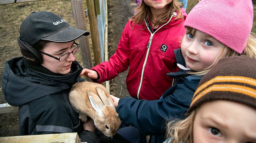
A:
[[[25,68],[24,58],[5,63],[2,90],[5,100],[12,106],[21,106],[38,98],[62,92],[77,82],[82,67],[77,61],[66,75],[49,75]]]

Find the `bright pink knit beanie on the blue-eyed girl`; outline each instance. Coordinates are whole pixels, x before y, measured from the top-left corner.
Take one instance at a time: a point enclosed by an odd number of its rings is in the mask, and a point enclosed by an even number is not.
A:
[[[189,12],[184,26],[207,33],[241,54],[253,26],[252,0],[202,0]]]

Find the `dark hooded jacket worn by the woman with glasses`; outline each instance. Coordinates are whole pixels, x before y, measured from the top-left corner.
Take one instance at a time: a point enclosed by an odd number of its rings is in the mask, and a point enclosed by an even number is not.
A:
[[[34,70],[34,68],[40,70]],[[21,135],[81,132],[82,121],[69,103],[69,90],[82,67],[74,61],[66,75],[47,74],[48,69],[25,66],[24,58],[5,63],[2,89],[6,101],[19,106]],[[50,71],[48,71],[50,73]]]

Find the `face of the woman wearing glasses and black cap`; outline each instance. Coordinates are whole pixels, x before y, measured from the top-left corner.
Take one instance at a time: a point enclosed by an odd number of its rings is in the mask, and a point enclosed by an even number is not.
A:
[[[47,45],[43,48],[42,52],[50,54],[55,57],[60,57],[63,54],[66,54],[68,52],[72,51],[72,45],[74,44],[74,41],[68,42],[68,43],[55,43],[55,42],[49,42]],[[42,66],[47,68],[53,73],[58,74],[67,74],[70,72],[71,64],[75,60],[74,55],[71,53],[69,57],[64,61],[58,61],[52,57],[49,57],[45,54],[42,54],[43,57],[43,63]]]

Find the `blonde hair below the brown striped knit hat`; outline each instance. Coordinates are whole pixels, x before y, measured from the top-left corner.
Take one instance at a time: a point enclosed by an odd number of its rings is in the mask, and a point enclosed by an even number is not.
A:
[[[192,143],[193,142],[193,126],[198,108],[193,110],[190,115],[181,121],[170,121],[167,123],[166,139],[171,143]]]

